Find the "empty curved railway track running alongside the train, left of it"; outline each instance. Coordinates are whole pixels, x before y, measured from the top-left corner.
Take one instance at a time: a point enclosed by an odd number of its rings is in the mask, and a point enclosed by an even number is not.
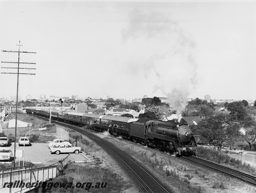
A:
[[[111,143],[102,140],[97,135],[94,135],[90,132],[84,131],[80,128],[67,125],[64,123],[56,122],[57,124],[63,126],[69,126],[69,128],[74,129],[87,137],[91,140],[97,142],[97,144],[101,145],[107,152],[109,152],[117,161],[121,163],[121,165],[133,176],[133,178],[137,181],[137,183],[143,188],[143,190],[147,193],[171,193],[172,191],[169,190],[164,185],[152,177],[144,168],[142,168],[139,164],[137,164],[132,158],[124,154],[118,148],[113,146]]]

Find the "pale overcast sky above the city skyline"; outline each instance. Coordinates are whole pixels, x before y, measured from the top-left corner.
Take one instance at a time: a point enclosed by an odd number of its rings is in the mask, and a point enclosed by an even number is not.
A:
[[[0,60],[25,98],[256,99],[256,4],[0,2]],[[17,64],[1,63],[1,67]],[[0,69],[1,72],[14,72]],[[28,70],[20,69],[22,73]],[[17,75],[0,74],[0,96]]]

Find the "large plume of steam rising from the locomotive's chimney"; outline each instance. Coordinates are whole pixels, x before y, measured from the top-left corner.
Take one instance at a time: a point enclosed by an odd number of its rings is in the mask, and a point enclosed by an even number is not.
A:
[[[143,74],[153,86],[153,93],[161,90],[180,121],[187,98],[197,84],[195,42],[162,13],[134,10],[129,19],[123,29],[127,70],[136,77]]]

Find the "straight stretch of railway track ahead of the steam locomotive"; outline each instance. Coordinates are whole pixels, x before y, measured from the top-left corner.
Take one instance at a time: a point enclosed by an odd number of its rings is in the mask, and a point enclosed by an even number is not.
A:
[[[221,173],[225,173],[229,176],[238,178],[240,180],[243,180],[249,184],[252,184],[254,186],[256,186],[256,177],[255,176],[251,176],[249,174],[225,167],[225,166],[221,166],[219,164],[207,161],[207,160],[203,160],[201,158],[195,157],[195,156],[189,156],[189,157],[182,157],[183,159],[189,160],[189,161],[193,161],[196,162],[200,165],[204,165],[206,167],[209,167],[211,169],[217,170]]]

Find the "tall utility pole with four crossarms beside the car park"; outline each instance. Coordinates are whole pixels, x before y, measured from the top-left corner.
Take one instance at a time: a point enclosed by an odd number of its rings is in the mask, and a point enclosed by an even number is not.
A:
[[[36,63],[32,63],[32,62],[20,62],[20,53],[32,53],[32,54],[36,54],[36,52],[28,52],[28,51],[20,51],[20,41],[19,41],[19,45],[16,44],[16,46],[19,46],[19,51],[6,51],[6,50],[2,50],[4,52],[18,52],[18,62],[2,62],[2,63],[16,63],[18,64],[18,68],[16,67],[1,67],[1,68],[7,68],[8,69],[18,69],[17,73],[14,72],[1,72],[1,74],[17,74],[17,98],[16,98],[16,120],[15,120],[15,135],[14,135],[14,165],[13,167],[15,167],[15,159],[16,159],[16,133],[17,133],[17,111],[18,111],[18,93],[19,93],[19,74],[29,74],[29,75],[36,75],[36,74],[31,74],[31,73],[20,73],[19,69],[33,69],[35,70],[35,68],[20,68],[19,64],[36,64]]]

